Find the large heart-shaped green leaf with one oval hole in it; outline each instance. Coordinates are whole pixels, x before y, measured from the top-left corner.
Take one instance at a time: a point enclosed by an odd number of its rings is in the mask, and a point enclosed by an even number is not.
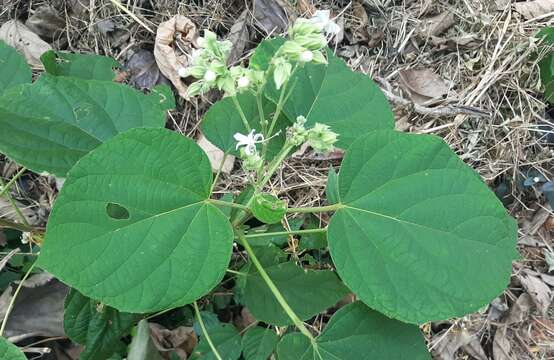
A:
[[[117,135],[69,172],[40,266],[121,311],[188,304],[219,283],[231,257],[231,225],[206,201],[211,182],[192,140],[166,129]],[[110,216],[113,204],[127,216]]]

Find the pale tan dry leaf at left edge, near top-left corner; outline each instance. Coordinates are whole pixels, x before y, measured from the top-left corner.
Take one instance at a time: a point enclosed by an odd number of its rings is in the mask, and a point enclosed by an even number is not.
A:
[[[31,67],[44,70],[40,56],[46,51],[52,50],[52,47],[23,23],[17,20],[4,23],[0,27],[0,40],[4,40],[22,53]]]

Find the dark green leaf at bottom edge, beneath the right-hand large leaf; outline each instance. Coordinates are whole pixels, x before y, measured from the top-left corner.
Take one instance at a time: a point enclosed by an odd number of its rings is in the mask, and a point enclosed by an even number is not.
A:
[[[288,334],[277,346],[279,360],[430,360],[417,326],[403,324],[349,304],[333,315],[315,347],[300,333]]]

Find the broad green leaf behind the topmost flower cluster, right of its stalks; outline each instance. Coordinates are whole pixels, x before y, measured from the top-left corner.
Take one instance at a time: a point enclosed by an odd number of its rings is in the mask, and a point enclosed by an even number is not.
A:
[[[283,39],[266,40],[254,54],[256,69],[266,69]],[[377,85],[365,74],[353,72],[342,59],[327,51],[328,65],[306,64],[290,79],[293,91],[283,108],[288,119],[306,117],[306,126],[327,124],[339,134],[338,147],[347,148],[354,139],[372,130],[392,129],[394,115]],[[267,96],[275,103],[279,91],[270,79]]]

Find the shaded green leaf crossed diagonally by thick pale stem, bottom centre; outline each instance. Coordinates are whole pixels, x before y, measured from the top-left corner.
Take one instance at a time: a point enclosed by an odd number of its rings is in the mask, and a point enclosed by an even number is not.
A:
[[[304,270],[292,261],[265,270],[301,320],[333,306],[348,293],[332,271]],[[260,321],[278,326],[292,324],[254,266],[250,266],[246,277],[244,303]]]

